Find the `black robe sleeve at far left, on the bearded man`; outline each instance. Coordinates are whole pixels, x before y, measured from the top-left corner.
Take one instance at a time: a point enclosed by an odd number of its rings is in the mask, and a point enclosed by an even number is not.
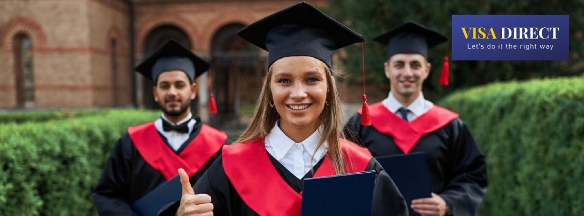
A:
[[[116,142],[103,174],[93,190],[93,202],[99,215],[136,215],[128,205],[133,151],[126,134]]]

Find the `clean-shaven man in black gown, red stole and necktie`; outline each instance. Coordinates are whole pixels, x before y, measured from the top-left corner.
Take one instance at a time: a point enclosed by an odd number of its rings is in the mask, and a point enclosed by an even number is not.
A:
[[[371,104],[371,126],[361,110],[349,119],[345,136],[373,156],[425,152],[432,197],[412,201],[421,215],[474,215],[485,194],[485,157],[458,114],[425,100],[422,83],[430,72],[427,48],[446,41],[418,23],[405,23],[374,39],[388,46],[385,76],[391,91]]]

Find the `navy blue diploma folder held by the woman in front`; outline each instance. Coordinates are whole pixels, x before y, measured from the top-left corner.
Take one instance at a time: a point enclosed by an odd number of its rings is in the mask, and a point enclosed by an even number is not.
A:
[[[302,216],[370,216],[374,170],[304,179]]]

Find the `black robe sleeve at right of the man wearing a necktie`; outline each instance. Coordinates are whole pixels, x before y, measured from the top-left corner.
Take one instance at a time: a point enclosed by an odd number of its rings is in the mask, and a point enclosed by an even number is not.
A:
[[[439,195],[452,215],[475,215],[487,186],[485,156],[463,121],[456,119],[451,124],[453,177]]]

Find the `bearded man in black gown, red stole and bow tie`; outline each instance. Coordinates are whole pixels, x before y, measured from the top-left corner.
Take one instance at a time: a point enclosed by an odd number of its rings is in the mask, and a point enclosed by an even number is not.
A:
[[[155,83],[162,115],[129,127],[116,142],[93,190],[100,215],[135,215],[130,205],[175,177],[176,170],[185,169],[194,184],[220,156],[227,135],[193,119],[190,112],[197,90],[194,79],[207,69],[206,62],[172,40],[138,65],[136,70]],[[180,197],[180,191],[169,193]]]

